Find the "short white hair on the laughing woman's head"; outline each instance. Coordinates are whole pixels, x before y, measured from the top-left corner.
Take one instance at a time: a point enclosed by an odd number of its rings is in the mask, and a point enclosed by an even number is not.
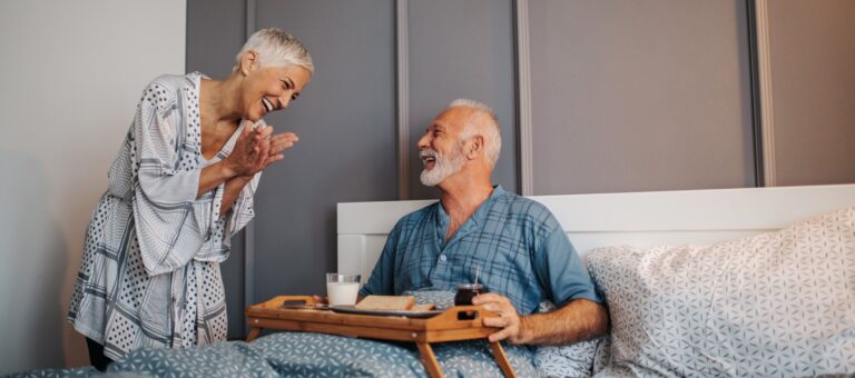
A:
[[[299,66],[312,73],[315,72],[312,56],[308,54],[303,43],[279,28],[267,28],[254,32],[235,57],[233,71],[237,71],[240,67],[240,57],[249,50],[258,53],[259,68]]]

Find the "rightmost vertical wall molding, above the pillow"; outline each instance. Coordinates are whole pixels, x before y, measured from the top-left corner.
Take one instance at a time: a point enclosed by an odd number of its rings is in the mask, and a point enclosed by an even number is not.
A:
[[[772,96],[772,49],[769,41],[769,1],[755,0],[755,38],[763,150],[763,185],[777,186],[775,175],[775,117]]]

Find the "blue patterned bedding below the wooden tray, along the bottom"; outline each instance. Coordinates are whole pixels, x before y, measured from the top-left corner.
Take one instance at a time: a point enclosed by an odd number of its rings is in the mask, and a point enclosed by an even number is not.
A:
[[[432,344],[446,377],[502,377],[485,340]],[[532,352],[505,346],[520,377],[538,377]],[[253,342],[188,349],[140,349],[111,364],[119,377],[426,377],[412,342],[278,332]],[[99,376],[91,368],[30,371],[13,377]]]

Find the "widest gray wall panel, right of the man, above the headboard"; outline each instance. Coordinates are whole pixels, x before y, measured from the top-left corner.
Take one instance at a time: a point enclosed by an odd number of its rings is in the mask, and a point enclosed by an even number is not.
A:
[[[754,186],[743,1],[530,2],[535,195]]]

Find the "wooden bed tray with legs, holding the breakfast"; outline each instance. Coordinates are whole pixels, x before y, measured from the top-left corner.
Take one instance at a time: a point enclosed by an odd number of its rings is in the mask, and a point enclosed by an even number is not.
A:
[[[247,341],[258,337],[263,328],[343,335],[381,340],[415,342],[421,360],[431,377],[443,377],[431,342],[460,341],[487,338],[497,331],[484,327],[483,318],[495,317],[480,306],[455,306],[432,318],[414,319],[394,316],[338,314],[331,310],[289,309],[282,305],[291,300],[315,305],[309,296],[278,296],[264,304],[246,308],[246,319],[252,327]],[[460,320],[460,314],[471,314],[472,319]],[[499,368],[505,377],[517,377],[502,345],[490,342]]]

